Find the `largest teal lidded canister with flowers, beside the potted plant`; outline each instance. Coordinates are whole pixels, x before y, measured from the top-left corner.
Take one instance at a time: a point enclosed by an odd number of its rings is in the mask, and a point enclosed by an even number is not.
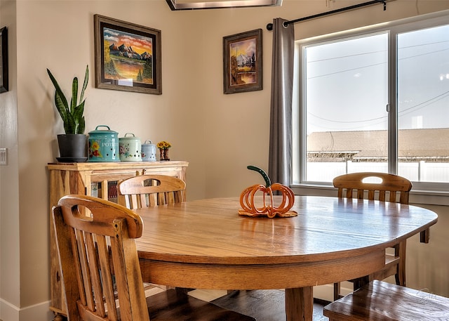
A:
[[[119,133],[105,125],[98,125],[95,131],[89,131],[88,162],[120,162]]]

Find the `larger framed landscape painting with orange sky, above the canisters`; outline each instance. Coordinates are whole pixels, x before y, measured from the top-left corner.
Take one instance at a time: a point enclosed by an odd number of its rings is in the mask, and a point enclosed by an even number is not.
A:
[[[161,31],[94,15],[95,87],[162,93]]]

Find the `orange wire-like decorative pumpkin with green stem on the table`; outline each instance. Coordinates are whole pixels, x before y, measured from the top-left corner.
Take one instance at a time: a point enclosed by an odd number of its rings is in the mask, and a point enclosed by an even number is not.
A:
[[[295,194],[288,186],[280,183],[272,184],[267,173],[256,166],[248,166],[250,170],[258,171],[265,180],[266,185],[256,184],[243,190],[240,195],[240,205],[243,210],[239,211],[240,215],[246,216],[274,216],[290,217],[296,216],[295,211],[290,211],[295,203]],[[282,195],[280,204],[274,204],[274,192],[279,191]],[[255,196],[262,194],[262,202],[255,202]]]

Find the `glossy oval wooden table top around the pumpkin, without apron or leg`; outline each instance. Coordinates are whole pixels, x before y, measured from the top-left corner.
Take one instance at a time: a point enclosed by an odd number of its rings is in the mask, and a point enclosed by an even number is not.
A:
[[[386,248],[437,221],[406,204],[297,196],[292,218],[239,216],[239,199],[218,198],[136,210],[140,257],[189,263],[320,261]]]

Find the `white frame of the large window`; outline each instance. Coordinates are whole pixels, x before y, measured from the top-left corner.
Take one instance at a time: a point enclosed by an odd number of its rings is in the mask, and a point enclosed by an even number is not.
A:
[[[306,110],[305,110],[305,75],[301,73],[304,65],[302,55],[304,46],[311,44],[320,44],[326,41],[336,41],[338,39],[348,39],[359,37],[366,34],[375,34],[378,32],[389,33],[389,120],[388,120],[388,144],[389,144],[389,172],[397,172],[397,107],[396,107],[396,35],[402,32],[420,30],[427,27],[437,27],[439,25],[448,25],[449,12],[431,13],[414,18],[398,20],[394,22],[382,23],[369,27],[362,27],[356,30],[347,30],[320,37],[313,37],[296,41],[295,44],[295,74],[294,74],[294,93],[293,93],[293,159],[292,159],[292,178],[293,190],[300,195],[335,195],[335,189],[331,183],[304,181],[306,164],[302,159],[306,159],[306,135],[300,129],[306,128]],[[298,67],[299,66],[299,67]],[[299,119],[299,122],[296,120]],[[391,135],[395,133],[395,135]],[[299,155],[297,157],[296,155]],[[443,204],[449,205],[449,183],[427,183],[413,182],[413,189],[410,192],[410,202],[417,204]]]

